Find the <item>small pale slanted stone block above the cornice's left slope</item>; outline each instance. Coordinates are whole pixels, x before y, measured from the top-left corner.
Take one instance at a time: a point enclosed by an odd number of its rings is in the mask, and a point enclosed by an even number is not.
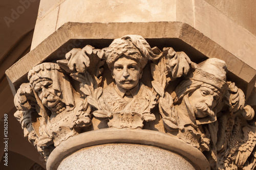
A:
[[[58,7],[51,11],[44,18],[36,22],[31,50],[33,50],[40,42],[45,40],[55,31],[57,17]]]

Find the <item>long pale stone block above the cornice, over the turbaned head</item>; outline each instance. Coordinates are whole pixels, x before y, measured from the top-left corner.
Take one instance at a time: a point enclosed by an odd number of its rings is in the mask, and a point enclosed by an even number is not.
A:
[[[72,8],[70,8],[72,7]],[[77,12],[79,11],[79,12]],[[175,21],[176,1],[74,1],[60,5],[57,28],[65,22]],[[129,28],[129,27],[128,27]]]

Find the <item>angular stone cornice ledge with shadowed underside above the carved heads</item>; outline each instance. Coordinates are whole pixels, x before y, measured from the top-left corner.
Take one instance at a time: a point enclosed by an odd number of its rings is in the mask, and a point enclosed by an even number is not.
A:
[[[126,29],[127,26],[129,26],[129,30]],[[152,27],[154,27],[154,31],[150,29]],[[126,34],[139,34],[152,45],[157,43],[160,46],[173,46],[175,50],[184,51],[195,62],[202,61],[207,57],[224,60],[229,70],[227,76],[232,81],[238,79],[238,81],[234,82],[244,90],[246,98],[248,98],[254,87],[256,79],[255,69],[187,23],[170,21],[119,23],[67,22],[6,71],[11,89],[15,93],[20,84],[26,82],[28,71],[37,64],[43,61],[63,59],[65,53],[61,52],[61,50],[65,49],[68,52],[67,48],[69,48],[69,45],[81,47],[90,44],[98,47],[97,45],[101,42],[99,47],[106,47],[113,39]],[[77,46],[76,43],[72,42],[74,39],[81,40]]]

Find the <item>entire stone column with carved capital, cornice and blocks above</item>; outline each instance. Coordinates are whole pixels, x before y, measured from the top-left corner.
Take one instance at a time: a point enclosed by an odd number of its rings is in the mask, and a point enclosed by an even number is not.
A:
[[[253,168],[254,42],[203,0],[41,1],[14,116],[48,170]]]

